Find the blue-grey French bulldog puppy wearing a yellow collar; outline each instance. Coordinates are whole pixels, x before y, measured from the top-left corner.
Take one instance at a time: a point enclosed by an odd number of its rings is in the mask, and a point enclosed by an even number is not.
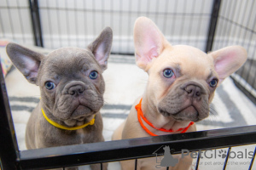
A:
[[[41,92],[26,126],[27,149],[104,141],[102,72],[107,69],[112,40],[107,27],[87,48],[59,48],[47,56],[9,43],[9,58]]]

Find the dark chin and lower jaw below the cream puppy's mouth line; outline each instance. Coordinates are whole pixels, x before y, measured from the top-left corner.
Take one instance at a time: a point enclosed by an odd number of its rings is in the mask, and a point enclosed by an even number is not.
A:
[[[177,122],[182,122],[182,121],[199,122],[202,120],[202,118],[200,117],[200,112],[196,109],[195,105],[189,105],[183,108],[181,111],[177,111],[176,113],[164,111],[163,109],[160,109],[160,108],[159,108],[159,112],[163,116],[172,117]]]

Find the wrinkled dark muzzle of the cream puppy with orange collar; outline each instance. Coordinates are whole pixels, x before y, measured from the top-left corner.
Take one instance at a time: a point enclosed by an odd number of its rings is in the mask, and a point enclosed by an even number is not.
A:
[[[179,96],[177,97],[177,94]],[[198,122],[208,116],[207,91],[200,82],[189,81],[177,85],[158,105],[163,116],[172,116],[177,121]]]

